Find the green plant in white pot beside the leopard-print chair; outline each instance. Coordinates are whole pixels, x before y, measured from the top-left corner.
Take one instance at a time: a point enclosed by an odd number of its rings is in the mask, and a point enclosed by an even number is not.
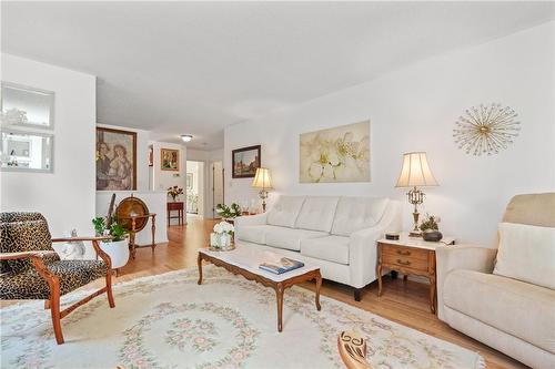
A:
[[[100,248],[110,256],[112,269],[119,269],[129,260],[128,232],[112,217],[95,217],[92,219],[97,236],[112,236],[111,240],[101,240]]]

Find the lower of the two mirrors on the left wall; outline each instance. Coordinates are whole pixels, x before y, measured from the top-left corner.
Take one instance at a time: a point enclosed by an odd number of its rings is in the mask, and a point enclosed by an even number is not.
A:
[[[51,134],[3,131],[0,142],[2,171],[52,172],[52,144]]]

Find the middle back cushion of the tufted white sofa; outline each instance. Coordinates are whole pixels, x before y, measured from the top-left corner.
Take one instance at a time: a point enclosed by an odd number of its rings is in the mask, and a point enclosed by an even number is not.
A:
[[[339,197],[309,196],[296,218],[295,228],[330,232]]]

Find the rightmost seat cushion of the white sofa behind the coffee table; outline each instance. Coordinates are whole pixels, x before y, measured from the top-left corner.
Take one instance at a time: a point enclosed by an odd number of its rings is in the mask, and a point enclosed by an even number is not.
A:
[[[349,265],[349,237],[327,236],[301,240],[301,254],[321,260]]]

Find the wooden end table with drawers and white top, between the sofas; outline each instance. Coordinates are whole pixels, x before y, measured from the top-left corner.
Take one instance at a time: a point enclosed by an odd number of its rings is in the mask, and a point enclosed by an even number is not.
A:
[[[436,275],[435,248],[440,245],[454,245],[453,237],[444,237],[441,243],[411,238],[406,233],[398,240],[377,240],[377,296],[382,296],[382,269],[389,268],[407,275],[423,276],[430,279],[430,309],[435,314]]]

